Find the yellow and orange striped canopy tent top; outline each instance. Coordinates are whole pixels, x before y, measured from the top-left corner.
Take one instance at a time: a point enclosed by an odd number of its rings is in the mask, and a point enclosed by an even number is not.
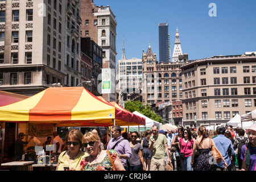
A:
[[[127,113],[106,104],[83,87],[52,87],[0,107],[0,122],[53,123],[59,126],[138,125]]]

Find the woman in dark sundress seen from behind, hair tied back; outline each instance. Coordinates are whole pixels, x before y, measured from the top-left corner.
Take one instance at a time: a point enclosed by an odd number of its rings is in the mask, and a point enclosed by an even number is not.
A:
[[[198,150],[200,155],[197,158],[195,170],[196,171],[215,171],[216,164],[213,164],[211,162],[212,155],[210,155],[211,154],[210,151],[212,151],[212,145],[214,147],[216,147],[216,145],[212,139],[207,137],[206,135],[207,131],[204,126],[199,127],[198,134],[199,134],[199,138],[197,138],[193,144],[191,166],[193,166],[194,156],[195,156],[196,150]],[[224,164],[226,165],[225,159],[223,158],[222,155],[221,155],[221,158],[224,161]]]

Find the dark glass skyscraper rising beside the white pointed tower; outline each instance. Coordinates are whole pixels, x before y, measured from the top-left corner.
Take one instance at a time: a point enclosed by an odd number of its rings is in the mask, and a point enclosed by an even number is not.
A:
[[[168,34],[168,23],[159,23],[159,62],[171,61],[170,34]]]

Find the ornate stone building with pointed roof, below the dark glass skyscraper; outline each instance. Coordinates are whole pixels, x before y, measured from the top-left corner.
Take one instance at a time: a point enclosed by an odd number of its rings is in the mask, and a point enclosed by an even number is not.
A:
[[[175,63],[157,63],[156,54],[153,54],[150,45],[147,52],[142,51],[144,105],[179,101],[183,98],[180,66],[184,61],[185,57],[180,57]]]

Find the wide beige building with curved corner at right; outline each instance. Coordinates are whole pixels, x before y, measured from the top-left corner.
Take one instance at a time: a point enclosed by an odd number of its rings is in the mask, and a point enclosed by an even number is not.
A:
[[[256,56],[212,56],[182,65],[183,125],[215,126],[256,109]]]

